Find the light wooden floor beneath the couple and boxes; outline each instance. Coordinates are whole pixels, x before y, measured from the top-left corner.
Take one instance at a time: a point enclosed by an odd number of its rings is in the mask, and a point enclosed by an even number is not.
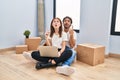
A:
[[[56,73],[55,67],[36,70],[34,66],[14,51],[0,53],[0,80],[120,80],[120,59],[116,58],[106,58],[97,66],[77,61],[71,76]]]

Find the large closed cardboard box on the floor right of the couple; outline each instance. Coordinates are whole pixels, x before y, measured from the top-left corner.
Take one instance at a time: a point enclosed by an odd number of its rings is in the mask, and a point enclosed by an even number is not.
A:
[[[105,46],[91,43],[77,45],[77,59],[89,65],[97,65],[104,62]]]

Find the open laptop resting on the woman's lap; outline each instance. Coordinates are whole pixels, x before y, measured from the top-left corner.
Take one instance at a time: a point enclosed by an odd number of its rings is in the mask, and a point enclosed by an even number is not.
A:
[[[39,46],[40,55],[43,57],[58,57],[58,48],[55,46]]]

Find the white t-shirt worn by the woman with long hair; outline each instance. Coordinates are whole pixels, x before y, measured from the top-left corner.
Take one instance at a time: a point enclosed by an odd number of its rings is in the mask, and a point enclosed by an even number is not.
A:
[[[52,46],[56,46],[57,48],[62,48],[62,41],[68,41],[67,34],[65,32],[62,32],[62,36],[59,37],[59,35],[53,34],[51,39]]]

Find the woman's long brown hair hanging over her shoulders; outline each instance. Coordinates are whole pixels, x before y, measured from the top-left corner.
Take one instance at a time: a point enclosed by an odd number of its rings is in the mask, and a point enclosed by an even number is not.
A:
[[[58,19],[60,21],[61,26],[59,27],[59,37],[62,36],[62,21],[60,20],[60,18],[53,18],[51,21],[51,25],[50,25],[50,37],[53,37],[53,34],[55,33],[55,29],[52,26],[52,23],[55,19]]]

